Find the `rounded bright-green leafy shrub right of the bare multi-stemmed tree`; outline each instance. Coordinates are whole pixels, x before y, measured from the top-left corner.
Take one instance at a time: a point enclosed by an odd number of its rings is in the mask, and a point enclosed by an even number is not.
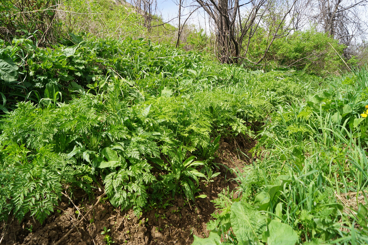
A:
[[[249,47],[250,57],[262,57],[268,44],[265,36],[263,30],[256,32]],[[347,70],[341,58],[344,48],[337,40],[311,27],[275,39],[266,55],[265,65],[270,69],[287,67],[321,75],[341,74]],[[356,66],[356,62],[354,58],[347,61],[350,66]]]

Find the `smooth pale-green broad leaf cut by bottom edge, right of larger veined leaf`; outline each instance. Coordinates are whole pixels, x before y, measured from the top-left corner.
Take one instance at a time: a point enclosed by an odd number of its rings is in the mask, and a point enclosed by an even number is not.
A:
[[[288,224],[271,220],[268,224],[268,245],[295,245],[298,241],[297,233]]]

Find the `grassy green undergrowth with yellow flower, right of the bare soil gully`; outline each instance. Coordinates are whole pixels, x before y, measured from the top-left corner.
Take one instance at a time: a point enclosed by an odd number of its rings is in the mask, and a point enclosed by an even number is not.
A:
[[[210,237],[193,244],[367,244],[367,77],[278,105],[252,149],[261,160],[237,178],[241,198],[224,190]]]

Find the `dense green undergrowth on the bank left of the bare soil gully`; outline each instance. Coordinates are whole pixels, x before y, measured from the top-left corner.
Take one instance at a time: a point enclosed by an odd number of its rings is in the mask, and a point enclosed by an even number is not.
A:
[[[295,71],[258,74],[143,39],[71,34],[50,48],[25,38],[2,46],[2,219],[42,221],[64,188],[92,193],[100,183],[136,214],[168,194],[194,201],[199,181],[218,174],[220,136],[254,136],[297,95],[285,86],[313,89]]]

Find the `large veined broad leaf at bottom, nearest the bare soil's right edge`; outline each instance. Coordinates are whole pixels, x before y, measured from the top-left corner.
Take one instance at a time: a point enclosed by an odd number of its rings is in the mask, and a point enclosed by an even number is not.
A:
[[[245,201],[234,202],[230,208],[230,221],[239,242],[258,238],[266,230],[266,216]]]

